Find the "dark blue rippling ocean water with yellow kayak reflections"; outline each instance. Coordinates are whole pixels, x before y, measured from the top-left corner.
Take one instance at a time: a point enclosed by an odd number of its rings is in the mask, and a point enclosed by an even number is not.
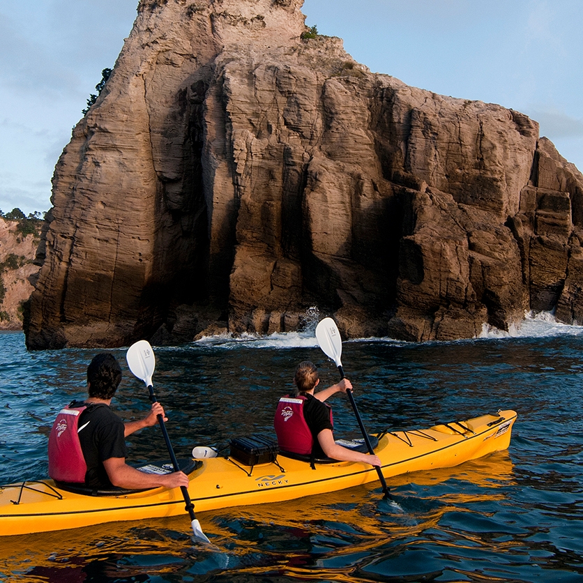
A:
[[[345,342],[342,363],[369,432],[515,409],[508,451],[453,469],[292,502],[197,513],[213,547],[193,543],[188,517],[0,537],[2,582],[583,582],[583,328],[529,318],[510,334],[407,344]],[[84,395],[97,351],[29,353],[0,334],[0,484],[47,474],[47,433]],[[124,418],[149,409],[144,384],[118,356],[114,399]],[[321,384],[338,371],[312,331],[207,338],[157,348],[154,386],[179,457],[271,430],[275,404],[311,359]],[[343,436],[358,436],[348,402],[331,400]],[[165,456],[158,427],[128,440],[130,461]]]

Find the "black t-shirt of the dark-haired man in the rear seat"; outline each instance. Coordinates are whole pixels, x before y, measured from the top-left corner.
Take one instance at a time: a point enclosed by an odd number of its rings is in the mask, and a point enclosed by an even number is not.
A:
[[[128,457],[124,434],[123,421],[105,404],[90,405],[79,416],[77,435],[87,464],[86,485],[112,487],[103,462],[110,457]]]

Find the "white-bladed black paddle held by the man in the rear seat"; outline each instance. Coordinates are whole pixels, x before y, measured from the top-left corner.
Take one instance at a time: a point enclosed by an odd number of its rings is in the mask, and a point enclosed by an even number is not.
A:
[[[154,356],[154,351],[150,346],[150,343],[146,340],[139,340],[135,342],[128,349],[128,354],[126,354],[126,360],[128,361],[128,367],[132,371],[132,374],[144,381],[150,392],[151,402],[156,402],[156,395],[154,395],[154,388],[152,385],[152,374],[154,373],[154,368],[156,367],[156,357]],[[162,430],[162,435],[164,436],[164,441],[166,441],[166,447],[168,448],[168,453],[170,454],[170,460],[172,460],[172,465],[174,466],[174,471],[179,471],[178,461],[176,460],[176,455],[174,455],[174,449],[170,443],[170,438],[166,430],[166,425],[164,424],[164,418],[162,415],[158,415],[158,423],[160,424],[160,429]],[[181,486],[182,495],[184,497],[184,502],[186,504],[186,510],[190,515],[190,523],[192,524],[192,532],[195,537],[200,540],[204,540],[205,543],[210,543],[211,541],[206,537],[206,534],[202,531],[200,523],[195,516],[195,507],[190,501],[190,496],[188,495],[188,488]]]

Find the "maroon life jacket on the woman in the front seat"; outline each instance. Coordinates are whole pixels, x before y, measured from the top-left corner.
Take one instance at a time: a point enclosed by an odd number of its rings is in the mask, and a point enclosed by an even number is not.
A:
[[[314,447],[314,437],[305,422],[303,405],[306,398],[302,395],[290,397],[286,395],[280,399],[278,409],[275,411],[275,433],[278,435],[280,450],[301,455],[311,455]],[[334,425],[332,409],[324,403],[330,412],[330,423]]]

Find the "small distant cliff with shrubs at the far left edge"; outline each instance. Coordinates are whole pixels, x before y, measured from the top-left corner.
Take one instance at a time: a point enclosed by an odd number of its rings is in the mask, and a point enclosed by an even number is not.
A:
[[[40,222],[27,221],[30,228],[23,229],[22,221],[0,217],[0,330],[22,329],[22,306],[33,291],[30,279],[38,273],[33,260]]]

